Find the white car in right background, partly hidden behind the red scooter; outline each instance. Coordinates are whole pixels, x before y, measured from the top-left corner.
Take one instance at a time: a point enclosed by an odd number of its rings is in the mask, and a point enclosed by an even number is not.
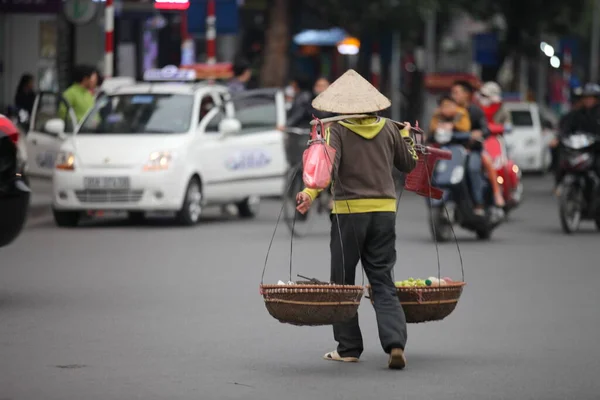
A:
[[[552,162],[549,143],[556,134],[552,116],[536,103],[506,102],[512,130],[504,135],[509,157],[524,172],[545,172]]]

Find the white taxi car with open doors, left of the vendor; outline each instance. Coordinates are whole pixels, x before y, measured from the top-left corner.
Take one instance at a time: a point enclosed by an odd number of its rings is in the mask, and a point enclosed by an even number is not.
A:
[[[125,210],[134,219],[174,211],[193,225],[204,206],[228,204],[255,216],[260,197],[284,186],[284,134],[276,129],[285,125],[284,103],[276,89],[231,97],[216,84],[138,83],[98,98],[74,134],[65,129],[74,121],[48,120],[29,135],[45,135],[46,151],[58,151],[56,223]],[[34,111],[36,127],[38,118]]]

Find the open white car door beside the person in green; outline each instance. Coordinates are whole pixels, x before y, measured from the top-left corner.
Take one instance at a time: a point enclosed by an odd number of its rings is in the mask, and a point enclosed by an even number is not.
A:
[[[57,120],[64,123],[64,133],[51,129],[50,125]],[[68,135],[73,134],[76,126],[77,117],[61,94],[40,92],[37,95],[26,139],[30,175],[47,178],[52,176],[60,146]]]

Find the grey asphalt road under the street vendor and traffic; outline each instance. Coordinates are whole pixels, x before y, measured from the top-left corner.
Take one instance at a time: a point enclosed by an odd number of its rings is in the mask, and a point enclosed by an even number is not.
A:
[[[0,250],[0,399],[598,399],[600,234],[564,236],[550,182],[526,185],[490,242],[459,232],[468,285],[446,320],[409,326],[404,371],[387,370],[366,299],[358,364],[321,359],[329,327],[269,316],[276,203],[191,229],[30,224]],[[426,213],[402,199],[397,278],[437,273]],[[328,278],[327,230],[295,242],[295,273]],[[459,279],[456,247],[440,252]],[[282,226],[267,282],[288,278],[288,254]]]

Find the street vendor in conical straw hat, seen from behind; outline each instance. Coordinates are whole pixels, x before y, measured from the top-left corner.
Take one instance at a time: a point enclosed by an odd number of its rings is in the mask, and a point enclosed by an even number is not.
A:
[[[340,117],[348,115],[329,125],[325,133],[336,150],[331,281],[354,285],[356,266],[361,261],[373,290],[379,338],[389,354],[388,366],[402,369],[406,365],[406,318],[392,278],[397,206],[393,170],[396,167],[409,173],[416,166],[417,154],[407,129],[401,132],[397,123],[376,115],[390,107],[390,101],[354,70],[333,82],[312,105]],[[298,211],[306,213],[317,194],[313,189],[298,193]],[[333,335],[337,350],[324,358],[357,362],[363,352],[358,315],[334,324]]]

